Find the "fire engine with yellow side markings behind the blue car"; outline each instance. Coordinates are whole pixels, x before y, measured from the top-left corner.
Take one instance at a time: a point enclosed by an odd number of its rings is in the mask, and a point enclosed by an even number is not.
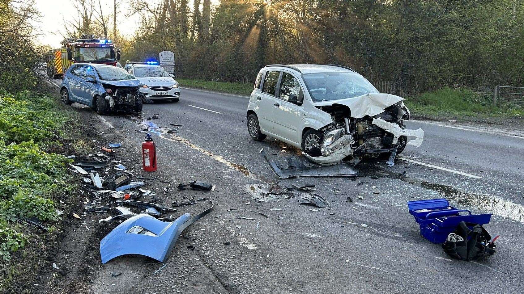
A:
[[[47,75],[59,78],[76,62],[101,63],[116,66],[120,49],[111,40],[95,39],[94,35],[82,35],[80,39],[66,38],[62,48],[48,52]]]

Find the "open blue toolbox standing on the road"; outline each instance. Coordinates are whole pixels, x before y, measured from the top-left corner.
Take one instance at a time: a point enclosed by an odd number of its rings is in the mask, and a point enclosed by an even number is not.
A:
[[[420,234],[429,241],[444,243],[459,222],[489,223],[493,213],[472,214],[470,210],[450,206],[445,198],[408,201],[409,213],[420,225]],[[462,213],[462,214],[461,214]],[[466,215],[464,215],[467,213]]]

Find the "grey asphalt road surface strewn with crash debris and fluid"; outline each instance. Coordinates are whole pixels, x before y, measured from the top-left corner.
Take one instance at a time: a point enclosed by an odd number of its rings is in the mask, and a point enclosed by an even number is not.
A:
[[[424,142],[419,148],[408,145],[402,153],[405,160],[397,160],[394,167],[370,161],[357,166],[355,180],[280,180],[261,158],[261,148],[279,162],[286,156],[303,158],[299,150],[270,137],[263,142],[250,139],[247,98],[185,88],[181,92],[178,103],[158,102],[144,105],[140,115],[103,118],[138,147],[144,134],[135,130],[155,131],[163,175],[216,185],[212,216],[184,231],[184,239],[196,247],[194,257],[170,260],[186,269],[203,268],[196,276],[215,282],[191,284],[189,272],[182,275],[187,287],[159,290],[164,278],[179,275],[168,270],[170,266],[162,270],[161,279],[140,277],[135,284],[140,292],[521,292],[516,281],[524,279],[524,139],[519,130],[412,121],[408,127],[424,129]],[[153,114],[160,118],[147,120]],[[167,134],[169,123],[181,125],[180,132]],[[367,183],[357,186],[359,182]],[[274,184],[316,185],[332,209],[311,211],[313,207],[299,206],[296,197],[256,202],[256,186]],[[347,196],[354,202],[346,202]],[[457,261],[420,236],[406,201],[441,197],[473,213],[494,213],[485,225],[492,236],[500,235],[493,256]],[[119,290],[125,292],[126,286]]]

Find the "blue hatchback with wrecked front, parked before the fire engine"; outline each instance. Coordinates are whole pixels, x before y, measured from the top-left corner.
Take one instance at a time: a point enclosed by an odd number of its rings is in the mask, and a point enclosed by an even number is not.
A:
[[[112,65],[74,63],[63,75],[60,100],[64,105],[87,105],[97,114],[142,111],[140,82],[127,71]]]

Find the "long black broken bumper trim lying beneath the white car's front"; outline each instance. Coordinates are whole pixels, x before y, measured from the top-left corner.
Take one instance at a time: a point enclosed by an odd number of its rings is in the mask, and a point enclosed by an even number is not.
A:
[[[349,177],[357,174],[355,169],[344,162],[328,166],[307,166],[303,163],[295,163],[290,157],[287,159],[288,167],[281,168],[276,162],[269,161],[264,148],[260,150],[260,154],[269,164],[271,170],[281,179],[290,177]]]

